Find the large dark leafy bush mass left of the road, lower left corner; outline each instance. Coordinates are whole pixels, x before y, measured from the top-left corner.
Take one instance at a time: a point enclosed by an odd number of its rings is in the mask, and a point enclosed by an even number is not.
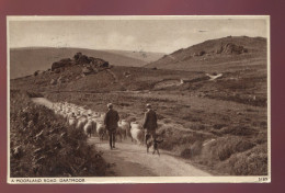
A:
[[[21,101],[21,102],[20,102]],[[11,177],[102,177],[107,164],[87,144],[83,130],[70,128],[53,111],[11,92]]]

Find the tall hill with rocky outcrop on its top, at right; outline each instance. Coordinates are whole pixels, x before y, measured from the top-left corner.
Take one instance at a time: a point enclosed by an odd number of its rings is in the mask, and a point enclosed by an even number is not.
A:
[[[207,72],[266,69],[266,38],[228,36],[209,39],[164,55],[146,67]]]

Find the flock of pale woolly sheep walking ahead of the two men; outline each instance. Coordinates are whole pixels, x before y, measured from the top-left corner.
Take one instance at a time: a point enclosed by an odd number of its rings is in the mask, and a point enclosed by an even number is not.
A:
[[[83,129],[90,137],[93,134],[98,135],[100,140],[103,140],[107,134],[104,126],[104,113],[86,110],[82,106],[67,102],[53,103],[50,109],[55,114],[61,115],[71,127]],[[129,123],[126,120],[121,120],[116,134],[119,136],[121,141],[130,137],[132,141],[135,140],[139,145],[144,144],[144,130],[137,122]]]

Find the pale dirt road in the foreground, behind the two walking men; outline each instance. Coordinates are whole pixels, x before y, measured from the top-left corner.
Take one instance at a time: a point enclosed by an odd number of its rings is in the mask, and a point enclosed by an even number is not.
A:
[[[99,141],[96,137],[89,139],[96,150],[103,151],[103,158],[113,164],[116,177],[208,177],[185,160],[173,157],[160,150],[160,156],[147,154],[146,147],[125,140],[116,143],[116,149],[111,150],[106,140]]]

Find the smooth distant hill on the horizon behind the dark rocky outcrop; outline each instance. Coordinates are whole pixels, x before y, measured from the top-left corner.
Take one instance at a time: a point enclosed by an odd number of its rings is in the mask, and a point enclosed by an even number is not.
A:
[[[82,53],[90,57],[102,58],[113,66],[134,66],[141,67],[149,63],[149,58],[158,59],[158,54],[153,57],[147,53],[146,57],[138,57],[133,52],[115,50],[93,50],[83,48],[48,48],[48,47],[26,47],[10,49],[10,78],[19,78],[34,73],[36,70],[46,70],[50,64],[61,59],[70,58],[76,53]]]

